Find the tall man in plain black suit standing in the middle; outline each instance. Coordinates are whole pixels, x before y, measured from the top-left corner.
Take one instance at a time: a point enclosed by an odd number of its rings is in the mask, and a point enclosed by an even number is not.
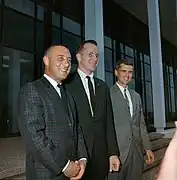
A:
[[[98,57],[97,43],[94,40],[83,42],[76,53],[77,72],[66,81],[67,90],[76,102],[89,154],[83,180],[105,180],[108,168],[118,171],[120,163],[109,88],[93,75]]]

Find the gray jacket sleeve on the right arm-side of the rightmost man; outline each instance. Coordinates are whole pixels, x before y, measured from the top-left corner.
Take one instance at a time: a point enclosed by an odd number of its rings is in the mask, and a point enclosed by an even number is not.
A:
[[[144,120],[144,114],[143,114],[143,108],[142,108],[142,102],[141,97],[139,96],[139,107],[140,107],[140,130],[141,130],[141,138],[143,142],[144,150],[150,150],[151,149],[151,143],[149,140],[149,135],[146,128],[146,123]]]

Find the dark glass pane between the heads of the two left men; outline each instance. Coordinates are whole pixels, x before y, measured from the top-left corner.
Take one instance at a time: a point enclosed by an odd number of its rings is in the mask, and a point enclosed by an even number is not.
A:
[[[70,33],[63,32],[62,40],[63,45],[67,45],[71,51],[72,63],[77,63],[75,53],[81,43],[81,38]]]

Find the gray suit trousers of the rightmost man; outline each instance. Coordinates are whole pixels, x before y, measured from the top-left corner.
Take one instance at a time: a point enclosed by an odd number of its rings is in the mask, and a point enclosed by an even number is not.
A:
[[[144,161],[140,157],[135,144],[131,148],[126,161],[118,173],[109,173],[108,180],[141,180]]]

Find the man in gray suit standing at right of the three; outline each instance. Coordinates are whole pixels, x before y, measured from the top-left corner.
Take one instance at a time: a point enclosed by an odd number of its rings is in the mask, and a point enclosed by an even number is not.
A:
[[[128,60],[118,61],[115,69],[117,82],[111,87],[111,101],[117,141],[122,163],[118,173],[110,173],[109,180],[141,180],[145,150],[146,163],[154,161],[154,154],[146,130],[141,98],[128,88],[132,80],[133,64]]]

